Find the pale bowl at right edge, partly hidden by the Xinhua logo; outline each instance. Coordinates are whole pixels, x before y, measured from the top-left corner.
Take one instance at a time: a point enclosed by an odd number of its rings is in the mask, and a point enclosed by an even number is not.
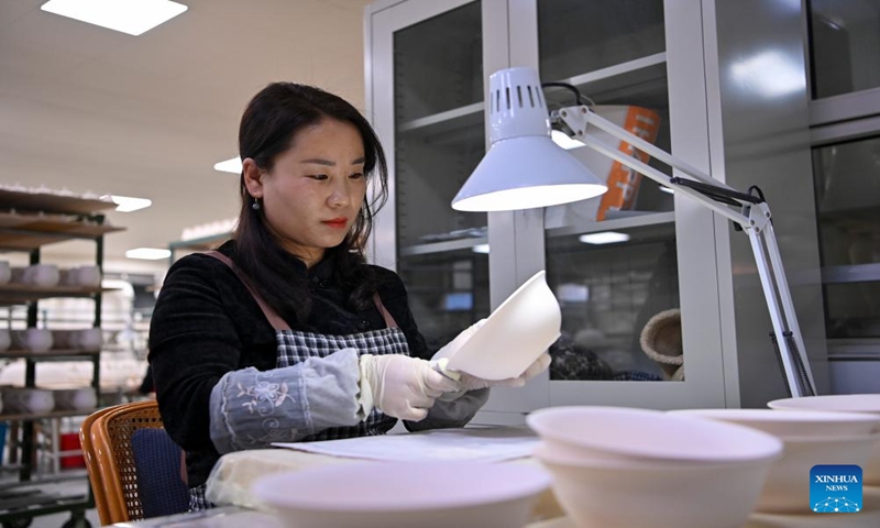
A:
[[[688,409],[671,411],[737,424],[782,440],[784,453],[767,475],[756,510],[776,514],[812,512],[810,470],[814,465],[865,468],[880,417],[854,413],[778,411],[771,409]]]

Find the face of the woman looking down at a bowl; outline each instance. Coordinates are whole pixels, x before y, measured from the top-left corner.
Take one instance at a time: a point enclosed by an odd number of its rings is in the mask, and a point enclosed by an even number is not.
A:
[[[342,243],[366,195],[364,144],[353,124],[324,118],[302,129],[272,170],[250,167],[255,178],[249,178],[248,161],[248,190],[261,198],[268,227],[284,249],[311,266],[326,249]]]

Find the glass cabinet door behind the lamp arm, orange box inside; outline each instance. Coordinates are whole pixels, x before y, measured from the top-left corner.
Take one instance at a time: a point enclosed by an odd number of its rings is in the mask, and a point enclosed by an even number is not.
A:
[[[537,10],[541,80],[574,86],[596,113],[670,151],[663,1],[538,0]],[[576,103],[570,90],[544,94],[550,110]],[[570,152],[609,191],[544,211],[547,278],[562,308],[551,387],[681,381],[681,318],[668,311],[680,307],[673,196],[590,147]],[[654,316],[659,339],[642,346]]]

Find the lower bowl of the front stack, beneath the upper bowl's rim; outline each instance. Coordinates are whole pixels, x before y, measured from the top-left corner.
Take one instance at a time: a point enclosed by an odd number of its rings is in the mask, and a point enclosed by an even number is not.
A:
[[[553,494],[583,527],[740,527],[755,507],[772,459],[727,465],[644,466],[535,457],[553,477]]]

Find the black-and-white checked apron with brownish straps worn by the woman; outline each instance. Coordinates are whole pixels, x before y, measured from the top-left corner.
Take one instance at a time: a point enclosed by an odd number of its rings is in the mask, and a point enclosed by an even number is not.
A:
[[[275,329],[275,342],[277,344],[276,367],[293,366],[301,363],[309,358],[327,358],[333,352],[342,349],[353,348],[358,355],[373,354],[403,354],[409,355],[409,345],[403,330],[397,328],[397,322],[385,309],[378,293],[373,295],[373,304],[385,319],[386,328],[382,330],[371,330],[369,332],[350,333],[345,336],[332,336],[315,332],[300,332],[290,330],[290,326],[270,307],[263,297],[251,287],[250,280],[242,274],[231,258],[219,251],[208,251],[205,253],[222,262],[232,270],[235,276],[242,282],[248,292],[253,296],[263,315],[266,316],[272,328]],[[376,408],[370,416],[356,426],[352,427],[331,427],[315,435],[302,438],[302,442],[316,440],[339,440],[343,438],[365,437],[371,435],[384,435],[397,422],[393,418]]]

